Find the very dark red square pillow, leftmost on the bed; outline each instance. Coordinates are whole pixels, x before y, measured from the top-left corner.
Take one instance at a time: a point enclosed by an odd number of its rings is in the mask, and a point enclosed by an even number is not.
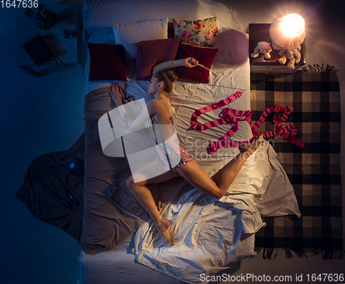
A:
[[[90,53],[89,81],[120,80],[127,82],[124,46],[89,42],[88,50]]]

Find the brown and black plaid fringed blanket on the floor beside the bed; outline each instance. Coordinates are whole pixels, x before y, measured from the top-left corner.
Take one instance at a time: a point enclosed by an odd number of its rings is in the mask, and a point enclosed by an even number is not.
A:
[[[267,226],[255,236],[264,258],[273,252],[322,253],[340,258],[342,247],[342,188],[340,182],[340,97],[335,72],[292,75],[251,74],[253,124],[266,108],[291,106],[283,126],[293,124],[306,144],[300,148],[280,135],[267,138],[290,179],[302,213],[297,216],[264,218]],[[273,113],[259,132],[275,130]],[[277,249],[280,248],[280,249]]]

